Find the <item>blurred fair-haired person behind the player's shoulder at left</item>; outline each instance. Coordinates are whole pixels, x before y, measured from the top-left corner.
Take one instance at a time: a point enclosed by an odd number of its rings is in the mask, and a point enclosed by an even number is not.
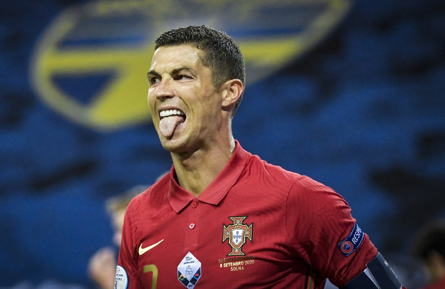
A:
[[[144,192],[149,185],[137,185],[125,193],[110,198],[106,202],[106,209],[111,218],[114,235],[113,243],[121,246],[122,226],[124,224],[125,210],[130,201],[138,194]],[[88,264],[88,275],[101,289],[114,288],[116,275],[117,253],[114,248],[104,247],[97,250]]]

